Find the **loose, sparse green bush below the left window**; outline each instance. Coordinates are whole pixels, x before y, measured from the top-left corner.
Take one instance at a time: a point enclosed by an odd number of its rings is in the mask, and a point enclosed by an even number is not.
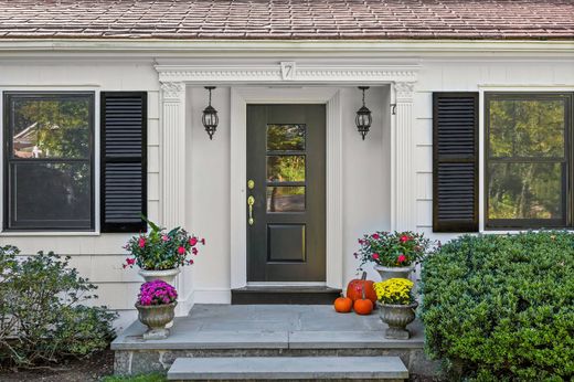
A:
[[[96,287],[53,253],[18,261],[0,247],[0,362],[31,367],[105,349],[116,315],[82,305]]]

